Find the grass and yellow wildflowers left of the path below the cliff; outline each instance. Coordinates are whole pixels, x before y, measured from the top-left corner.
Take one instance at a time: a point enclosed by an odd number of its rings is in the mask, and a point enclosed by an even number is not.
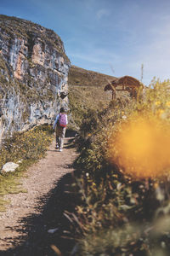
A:
[[[7,162],[13,161],[20,166],[15,172],[0,174],[0,211],[5,211],[3,195],[26,192],[22,189],[20,177],[26,175],[26,169],[32,163],[42,158],[52,141],[52,128],[49,125],[42,125],[23,133],[15,133],[3,141],[0,150],[0,169]]]

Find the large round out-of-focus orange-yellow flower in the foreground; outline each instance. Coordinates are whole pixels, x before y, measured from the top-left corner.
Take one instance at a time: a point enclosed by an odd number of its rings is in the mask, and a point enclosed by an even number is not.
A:
[[[170,168],[169,125],[158,117],[134,117],[111,137],[110,160],[132,177],[159,177]]]

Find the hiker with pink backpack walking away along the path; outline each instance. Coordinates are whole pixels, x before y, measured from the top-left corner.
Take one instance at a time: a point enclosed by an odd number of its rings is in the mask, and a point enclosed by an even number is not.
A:
[[[58,115],[54,121],[54,131],[56,138],[56,149],[59,149],[59,152],[63,150],[64,138],[66,125],[68,124],[67,114],[65,113],[65,108],[60,108]]]

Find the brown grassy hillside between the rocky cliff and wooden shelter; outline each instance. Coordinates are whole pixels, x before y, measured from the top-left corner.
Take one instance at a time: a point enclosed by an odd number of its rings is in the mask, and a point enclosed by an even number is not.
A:
[[[98,112],[108,108],[112,100],[111,90],[105,91],[105,85],[117,79],[103,73],[89,71],[81,67],[71,66],[68,75],[69,103],[71,122],[74,128],[82,124],[84,114],[89,109]],[[116,98],[129,99],[128,93],[117,91]]]

